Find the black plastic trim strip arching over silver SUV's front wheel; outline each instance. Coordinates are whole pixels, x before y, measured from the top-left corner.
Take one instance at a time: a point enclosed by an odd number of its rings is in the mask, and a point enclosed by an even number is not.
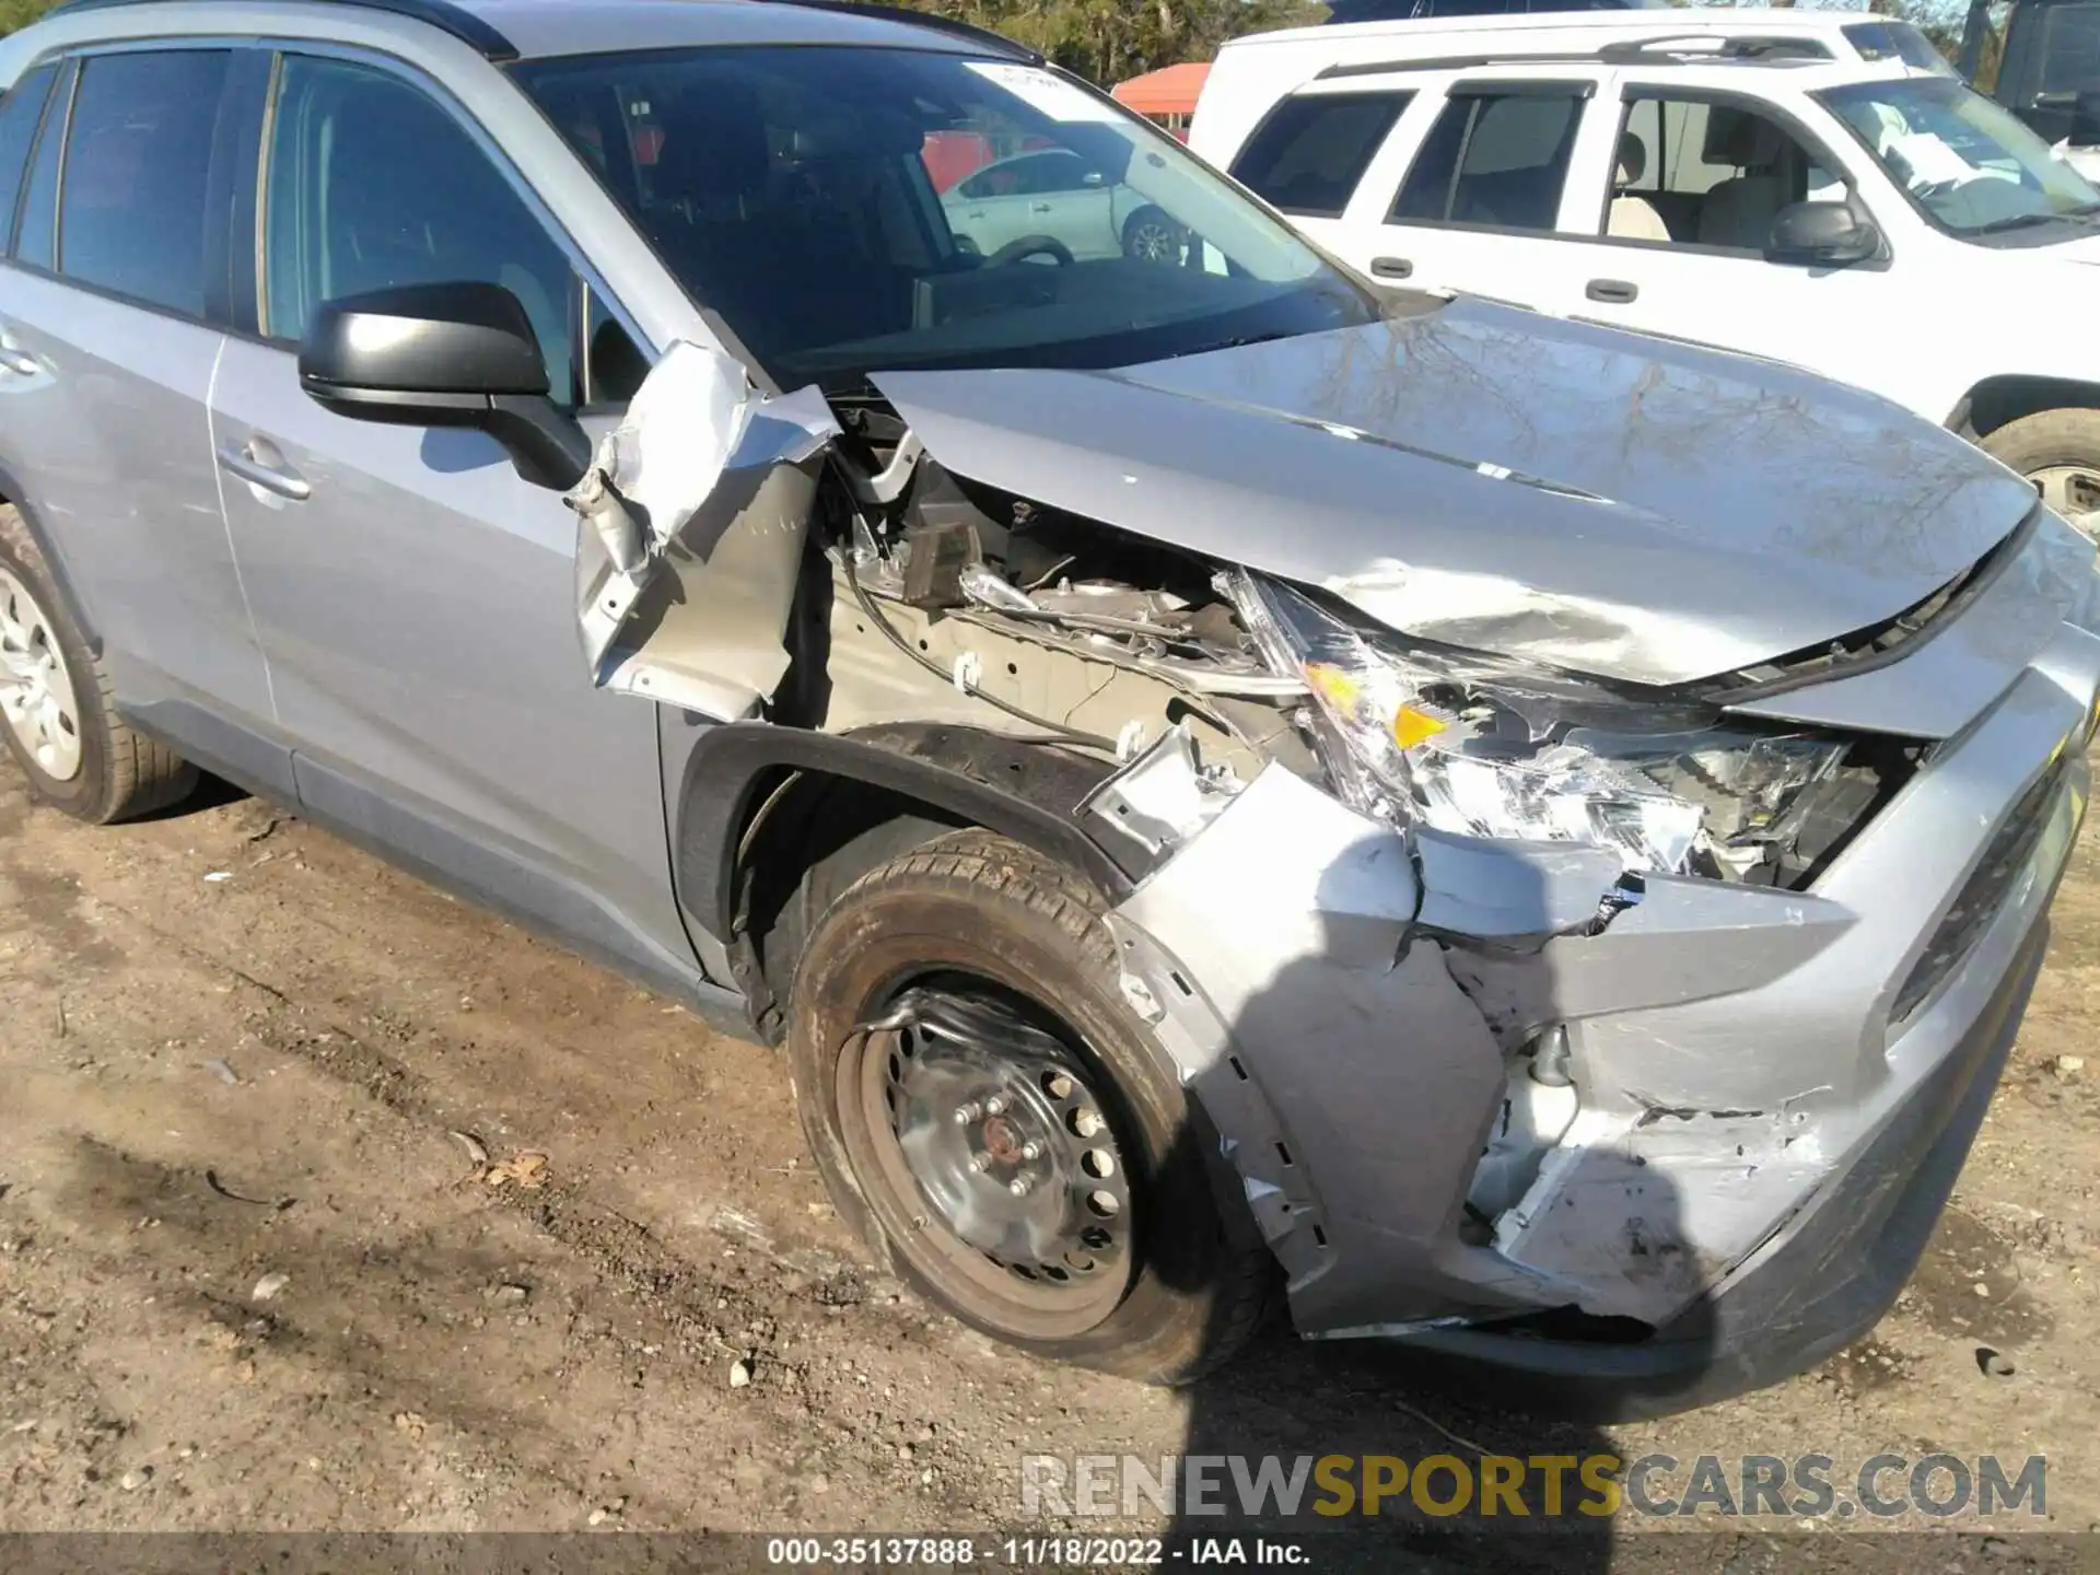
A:
[[[1111,901],[1130,895],[1130,876],[1075,819],[1079,800],[1119,771],[1113,762],[941,722],[844,735],[722,722],[693,746],[672,838],[678,903],[722,945],[737,928],[737,844],[758,788],[781,769],[916,798],[1067,861]]]

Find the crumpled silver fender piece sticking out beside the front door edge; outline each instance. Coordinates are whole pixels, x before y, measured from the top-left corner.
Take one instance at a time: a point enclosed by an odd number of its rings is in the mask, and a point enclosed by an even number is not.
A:
[[[664,353],[567,496],[592,682],[716,718],[773,691],[815,460],[836,435],[817,388],[764,399],[714,346]]]

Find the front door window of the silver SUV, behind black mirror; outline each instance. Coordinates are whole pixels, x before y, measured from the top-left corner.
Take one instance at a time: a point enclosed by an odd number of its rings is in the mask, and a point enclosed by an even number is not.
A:
[[[500,284],[575,403],[575,269],[472,134],[401,78],[288,55],[265,218],[265,332],[298,338],[323,300],[414,284]]]

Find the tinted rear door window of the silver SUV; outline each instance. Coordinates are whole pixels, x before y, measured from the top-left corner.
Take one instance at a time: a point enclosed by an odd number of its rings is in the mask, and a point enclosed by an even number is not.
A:
[[[204,315],[204,191],[229,50],[99,55],[65,136],[59,271]]]

